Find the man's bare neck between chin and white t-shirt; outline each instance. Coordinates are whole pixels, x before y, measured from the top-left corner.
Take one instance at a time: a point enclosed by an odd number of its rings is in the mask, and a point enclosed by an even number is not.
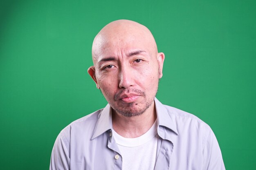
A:
[[[113,129],[121,136],[135,138],[146,133],[157,118],[155,102],[141,115],[125,117],[112,109]]]

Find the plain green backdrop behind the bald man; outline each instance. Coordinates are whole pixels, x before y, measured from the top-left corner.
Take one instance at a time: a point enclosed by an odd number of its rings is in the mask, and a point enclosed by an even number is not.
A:
[[[200,117],[226,169],[256,166],[256,1],[0,1],[0,165],[49,169],[58,133],[107,102],[87,73],[107,23],[146,25],[164,52],[157,98]]]

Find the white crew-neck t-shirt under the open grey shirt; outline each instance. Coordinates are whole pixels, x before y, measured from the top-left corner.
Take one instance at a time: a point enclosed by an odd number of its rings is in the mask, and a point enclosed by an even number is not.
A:
[[[154,170],[157,154],[157,120],[143,135],[125,138],[112,130],[123,158],[123,170]]]

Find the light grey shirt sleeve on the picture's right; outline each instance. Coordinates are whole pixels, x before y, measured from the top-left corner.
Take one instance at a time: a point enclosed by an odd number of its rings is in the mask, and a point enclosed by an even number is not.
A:
[[[225,170],[220,147],[212,130],[203,148],[203,170]]]

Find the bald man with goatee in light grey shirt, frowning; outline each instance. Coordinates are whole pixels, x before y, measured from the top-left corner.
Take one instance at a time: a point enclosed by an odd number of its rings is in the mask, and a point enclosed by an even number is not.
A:
[[[164,53],[145,26],[106,25],[92,60],[88,73],[108,105],[61,131],[50,170],[225,170],[211,128],[155,98]]]

